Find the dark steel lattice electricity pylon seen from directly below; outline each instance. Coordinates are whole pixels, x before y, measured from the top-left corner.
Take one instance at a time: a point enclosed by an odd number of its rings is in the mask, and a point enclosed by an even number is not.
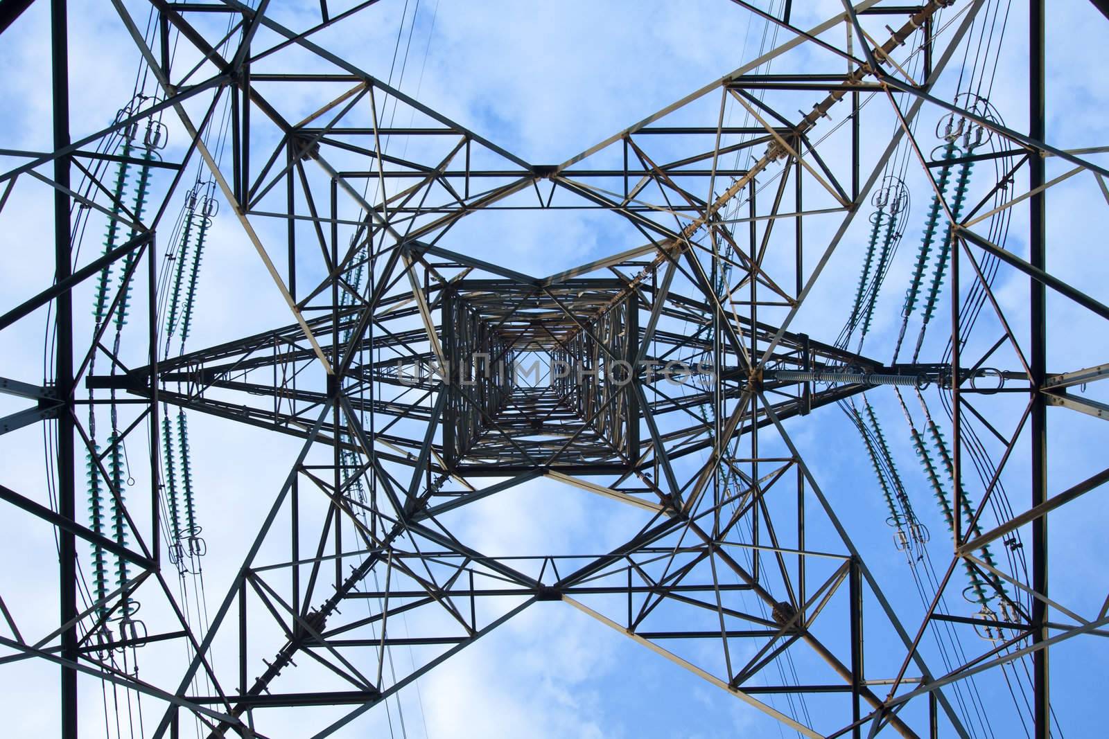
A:
[[[78,131],[69,70],[89,60],[74,58],[65,1],[35,4],[51,9],[52,147],[3,150],[0,217],[21,188],[52,198],[55,268],[52,283],[4,296],[0,335],[45,319],[53,348],[44,377],[0,377],[22,403],[0,435],[41,427],[49,484],[0,485],[0,497],[6,516],[57,532],[60,612],[28,624],[0,599],[0,661],[59,666],[62,737],[92,710],[79,676],[155,706],[144,736],[197,720],[212,737],[284,736],[279,709],[340,707],[315,729],[327,736],[540,602],[802,736],[976,736],[957,686],[1027,660],[1030,726],[1058,736],[1049,647],[1103,636],[1109,601],[1082,616],[1049,595],[1048,513],[1109,471],[1049,468],[1048,409],[1103,420],[1109,407],[1078,391],[1107,366],[1056,361],[1047,327],[1064,304],[1097,321],[1109,307],[1103,290],[1049,268],[1047,198],[1071,175],[1109,192],[1109,170],[1103,147],[1046,136],[1042,0],[1013,10],[1029,11],[1028,37],[1006,41],[1028,59],[1027,106],[1000,112],[958,86],[978,24],[999,17],[985,0],[864,0],[811,29],[788,0],[721,3],[779,28],[780,44],[559,164],[525,161],[317,43],[367,22],[375,0],[292,16],[267,0],[113,0],[156,93]],[[0,44],[30,6],[0,3]],[[804,73],[764,66],[805,50]],[[390,106],[413,123],[386,121]],[[163,150],[170,133],[185,143]],[[902,161],[912,179],[891,174]],[[974,174],[987,167],[997,176]],[[456,238],[464,219],[509,209],[604,212],[628,240],[523,274],[498,258],[506,245]],[[864,345],[891,315],[876,301],[920,212],[896,349]],[[1026,233],[1007,244],[998,235],[1015,212]],[[186,350],[216,218],[256,252],[287,310]],[[103,248],[78,250],[83,224],[106,230]],[[844,306],[855,299],[844,332],[810,329],[806,299],[867,230],[857,289],[836,288]],[[998,296],[999,271],[1019,308]],[[75,306],[88,299],[91,322]],[[919,338],[906,332],[917,321]],[[865,456],[877,475],[855,493],[884,494],[910,563],[925,545],[938,552],[923,617],[868,567],[889,553],[848,535],[867,512],[825,491],[798,451],[805,424],[834,406],[863,441],[832,451]],[[274,462],[288,470],[278,490],[252,491],[245,558],[203,627],[172,578],[207,547],[194,504],[220,515],[220,501],[194,492],[195,413],[301,445]],[[903,422],[908,433],[889,432]],[[924,494],[904,483],[898,444],[920,458]],[[1010,472],[1010,458],[1027,471]],[[542,555],[490,555],[456,536],[459,509],[538,480],[629,506],[638,523],[614,548]],[[950,532],[916,517],[933,493]],[[96,586],[79,606],[87,575]],[[964,591],[971,606],[946,610],[944,594]],[[390,629],[403,615],[417,623],[404,636]],[[939,629],[986,640],[943,665],[929,653]],[[390,649],[405,646],[420,659],[398,676]],[[115,667],[113,654],[139,647],[157,680]],[[770,669],[785,655],[797,655],[792,680]],[[285,687],[298,670],[313,670],[311,689]],[[775,708],[776,695],[823,702],[802,717]]]

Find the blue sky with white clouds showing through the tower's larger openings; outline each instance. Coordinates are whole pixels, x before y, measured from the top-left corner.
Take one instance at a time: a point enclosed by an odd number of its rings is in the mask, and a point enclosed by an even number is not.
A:
[[[812,25],[842,9],[834,0],[803,4],[804,8],[794,9],[801,27]],[[307,12],[295,3],[275,6],[279,19],[295,20],[298,13]],[[404,6],[400,0],[385,0],[367,11],[363,20],[339,27],[342,31],[322,34],[318,42],[370,73],[387,78]],[[45,8],[44,3],[37,3],[13,27],[18,35],[9,32],[0,44],[0,70],[9,80],[4,85],[17,101],[6,106],[0,121],[9,132],[4,145],[13,148],[49,146],[49,99],[43,93],[49,71],[30,64],[30,60],[45,58]],[[83,7],[74,9],[74,13],[71,55],[74,60],[95,60],[74,63],[72,68],[74,131],[93,131],[111,120],[126,96],[138,54],[121,34],[106,6]],[[1018,130],[1025,125],[1022,14],[1022,4],[1015,3],[1010,41],[999,63],[997,92],[993,97],[1006,122]],[[136,16],[144,17],[144,11],[143,14],[136,11]],[[1098,112],[1109,102],[1109,89],[1101,75],[1076,74],[1075,70],[1099,69],[1098,38],[1105,22],[1089,3],[1080,0],[1051,4],[1048,131],[1049,140],[1059,146],[1102,143],[1105,127]],[[77,33],[79,28],[84,33]],[[723,0],[680,4],[581,2],[558,7],[491,2],[484,3],[480,12],[470,3],[424,0],[415,22],[408,66],[398,86],[529,162],[560,162],[747,61],[754,55],[761,34],[760,22],[749,28],[747,14]],[[824,64],[827,60],[801,52],[784,59],[775,71],[816,63]],[[22,74],[16,74],[17,71]],[[398,79],[399,75],[395,83]],[[303,105],[311,107],[317,95],[317,91],[306,90]],[[715,100],[710,107],[716,104]],[[881,99],[872,103],[884,104]],[[888,112],[886,116],[889,119]],[[922,129],[927,130],[935,117],[937,111],[926,107]],[[830,125],[837,122],[834,119]],[[892,119],[888,125],[892,126]],[[176,148],[182,141],[180,130],[174,133],[177,135],[170,151],[180,151]],[[866,155],[876,156],[876,146],[882,143],[868,141]],[[1103,155],[1095,161],[1103,163]],[[1065,168],[1049,162],[1048,177]],[[928,199],[927,185],[918,174],[915,176],[914,209],[905,245],[881,298],[875,337],[868,341],[883,359],[888,358],[891,338],[896,335],[903,284],[915,256]],[[22,249],[20,254],[29,255],[10,260],[10,267],[0,275],[0,292],[11,296],[10,305],[49,281],[52,265],[47,244],[51,232],[44,193],[41,184],[21,181],[13,191],[12,203],[0,213],[4,248]],[[1097,183],[1082,173],[1052,189],[1048,201],[1050,268],[1091,295],[1103,296],[1107,270],[1098,237],[1103,233],[1106,201]],[[861,216],[867,212],[864,208]],[[627,226],[603,213],[562,212],[536,218],[479,215],[480,218],[464,220],[451,234],[451,248],[469,248],[477,256],[532,274],[549,274],[641,242],[628,240],[631,237]],[[814,219],[811,226],[814,257],[823,246],[821,235],[834,228],[838,216],[831,216],[827,223],[824,227]],[[1016,208],[1007,246],[1018,254],[1027,249],[1022,237],[1026,223],[1026,211]],[[866,223],[859,218],[798,315],[795,330],[834,339],[845,318],[843,291],[847,289],[845,286],[853,288],[857,276],[865,229]],[[275,226],[263,223],[260,233],[267,243],[281,243],[281,229]],[[99,248],[99,234],[89,237],[88,244],[90,248]],[[265,276],[257,255],[226,211],[213,225],[208,254],[199,328],[191,339],[193,348],[288,322],[288,311]],[[242,289],[244,285],[252,289]],[[997,289],[1007,314],[1022,327],[1026,280],[1003,274]],[[8,299],[4,302],[9,305]],[[83,305],[80,299],[78,305]],[[1082,340],[1083,335],[1102,336],[1100,322],[1062,300],[1052,298],[1050,305],[1049,370],[1066,371],[1103,361],[1103,343]],[[235,320],[226,320],[227,316]],[[39,348],[43,319],[32,317],[0,337],[3,341],[0,374],[20,379],[41,376]],[[88,328],[89,318],[82,316],[80,320]],[[981,340],[988,341],[985,336]],[[1097,389],[1090,391],[1092,394]],[[945,526],[930,503],[923,476],[916,472],[918,468],[898,418],[899,410],[888,394],[876,391],[869,396],[887,429],[895,429],[891,434],[897,437],[895,455],[899,468],[906,471],[917,510],[922,516],[929,516],[934,557],[937,563],[943,562],[948,548],[944,542]],[[0,402],[6,403],[0,406],[0,412],[10,412],[8,399]],[[17,408],[12,406],[11,410]],[[935,403],[934,412],[937,410]],[[995,412],[998,418],[1009,418],[1013,409],[998,407]],[[1098,471],[1099,450],[1103,448],[1103,431],[1098,421],[1062,413],[1058,410],[1051,415],[1051,492]],[[260,507],[268,506],[271,491],[279,486],[287,473],[287,460],[295,454],[298,443],[274,440],[252,429],[235,429],[228,435],[225,423],[194,415],[191,423],[197,484],[202,491],[200,506],[212,552],[205,562],[207,587],[210,599],[216,601],[242,558],[248,536],[253,536],[254,522],[261,517]],[[903,555],[892,545],[891,530],[884,523],[884,504],[857,434],[833,408],[823,409],[804,424],[794,423],[788,429],[883,588],[895,603],[903,605],[906,626],[915,629],[919,607],[909,589]],[[12,486],[40,494],[38,430],[24,429],[9,437],[3,439],[3,449],[12,460]],[[140,456],[143,451],[132,449],[131,453]],[[1007,473],[1011,475],[1007,484],[1016,510],[1026,506],[1027,483],[1021,478],[1026,465],[1025,459],[1015,459]],[[556,494],[558,504],[545,505]],[[1082,614],[1090,608],[1096,612],[1105,593],[1105,579],[1099,579],[1097,568],[1091,565],[1097,561],[1098,544],[1103,541],[1105,516],[1096,495],[1091,493],[1051,519],[1052,532],[1058,532],[1052,534],[1056,547],[1052,593],[1064,603],[1083,606],[1079,610]],[[543,507],[541,517],[535,514],[539,506]],[[250,523],[240,525],[236,523],[240,519]],[[50,530],[41,525],[24,530],[14,521],[2,525],[6,536],[0,555],[7,561],[23,560],[24,552],[41,554],[29,558],[20,571],[6,567],[0,575],[0,595],[17,612],[17,619],[52,618],[55,593],[43,585],[52,583]],[[466,509],[457,526],[472,537],[470,541],[480,542],[478,548],[491,554],[520,547],[564,552],[593,547],[598,538],[617,541],[619,532],[627,531],[629,516],[580,491],[542,483]],[[244,535],[243,530],[250,534]],[[868,612],[868,623],[878,620],[876,613],[872,618]],[[888,630],[875,628],[878,630],[873,638],[889,638]],[[257,642],[261,644],[252,644],[252,648],[257,649],[261,659],[272,649],[264,635]],[[1105,676],[1109,655],[1100,642],[1097,637],[1076,639],[1052,653],[1056,709],[1066,736],[1087,736],[1095,730],[1097,717],[1083,704],[1089,698],[1089,686]],[[891,653],[899,657],[899,645],[891,644]],[[395,656],[398,663],[408,658],[401,650]],[[156,675],[161,666],[144,664],[143,669]],[[398,669],[404,669],[403,664]],[[940,671],[936,665],[933,669]],[[27,736],[49,735],[52,712],[18,708],[38,700],[39,696],[52,695],[54,668],[23,664],[6,669],[2,675],[2,684],[10,686],[2,700],[17,709],[8,715],[21,722],[20,731]],[[779,735],[773,722],[732,696],[561,604],[538,604],[418,685],[418,694],[411,689],[403,694],[409,736],[417,737],[424,736],[425,727],[429,737]],[[1004,684],[984,681],[983,689],[996,702],[999,723],[1006,720],[1011,704],[1001,694]],[[100,701],[96,682],[90,680],[83,685],[82,700],[89,706]],[[812,705],[822,704],[813,700]],[[779,708],[782,707],[780,701]],[[390,718],[397,720],[380,710],[372,711],[342,736],[380,733],[387,730]],[[102,718],[93,710],[88,721],[89,736],[98,736]],[[299,714],[282,717],[285,733],[274,736],[304,736],[309,722],[315,725],[316,718]],[[1004,728],[998,736],[1010,736],[1009,731],[1019,736],[1016,733],[1019,729],[1011,725],[1000,726]]]

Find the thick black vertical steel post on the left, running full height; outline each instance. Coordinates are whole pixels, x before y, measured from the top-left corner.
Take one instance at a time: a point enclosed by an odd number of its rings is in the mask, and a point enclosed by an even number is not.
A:
[[[69,53],[65,0],[50,4],[50,32],[53,60],[54,151],[69,146]],[[70,157],[54,160],[54,280],[61,283],[73,271],[72,244],[70,243]],[[58,397],[65,403],[58,414],[58,513],[74,521],[73,473],[73,296],[70,290],[58,295],[54,304],[57,356],[54,383]],[[61,657],[77,663],[77,541],[71,532],[59,528],[59,618],[62,629]],[[77,739],[77,669],[62,666],[61,720],[62,739]]]

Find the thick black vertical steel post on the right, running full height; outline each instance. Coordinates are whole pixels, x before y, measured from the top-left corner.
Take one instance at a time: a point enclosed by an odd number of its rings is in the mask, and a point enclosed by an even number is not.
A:
[[[1044,0],[1029,0],[1028,17],[1028,135],[1037,141],[1045,140],[1044,125]],[[1029,158],[1029,187],[1035,192],[1044,185],[1044,157],[1034,154]],[[1045,196],[1040,192],[1029,198],[1029,261],[1037,269],[1045,269]],[[1029,284],[1031,347],[1030,369],[1032,371],[1031,435],[1031,494],[1032,506],[1044,503],[1047,496],[1047,403],[1039,389],[1047,373],[1047,324],[1046,295],[1044,284],[1032,278]],[[1047,516],[1032,522],[1032,588],[1044,595],[1047,591]],[[1032,644],[1048,638],[1047,604],[1039,598],[1032,601]],[[1036,719],[1036,738],[1048,739],[1050,735],[1050,691],[1047,647],[1041,647],[1032,657],[1032,690]]]

